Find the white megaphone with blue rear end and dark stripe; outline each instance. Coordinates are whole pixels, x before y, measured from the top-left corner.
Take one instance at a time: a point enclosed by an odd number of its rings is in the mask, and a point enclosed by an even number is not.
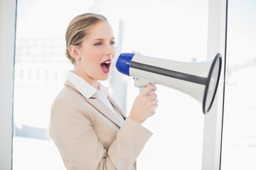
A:
[[[122,74],[134,77],[134,86],[143,89],[148,84],[161,84],[181,91],[203,105],[203,113],[210,111],[218,89],[221,72],[218,53],[206,62],[178,62],[134,53],[122,53],[116,63]]]

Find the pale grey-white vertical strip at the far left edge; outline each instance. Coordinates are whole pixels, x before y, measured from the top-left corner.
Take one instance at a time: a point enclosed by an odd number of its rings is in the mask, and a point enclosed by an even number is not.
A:
[[[0,169],[11,169],[16,0],[0,0]]]

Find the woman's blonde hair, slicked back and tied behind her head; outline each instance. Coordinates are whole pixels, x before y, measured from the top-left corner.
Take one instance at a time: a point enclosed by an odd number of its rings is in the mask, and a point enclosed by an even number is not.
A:
[[[70,55],[70,45],[80,47],[82,40],[87,37],[87,30],[89,30],[92,26],[95,26],[95,24],[99,23],[100,21],[107,22],[107,18],[97,13],[83,13],[70,21],[65,33],[65,55],[72,64],[75,64],[75,59]]]

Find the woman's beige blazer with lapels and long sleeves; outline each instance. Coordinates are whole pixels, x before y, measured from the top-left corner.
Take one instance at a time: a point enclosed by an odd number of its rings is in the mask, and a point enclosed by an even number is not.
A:
[[[96,96],[85,98],[70,81],[53,101],[50,137],[58,147],[66,169],[136,169],[136,159],[152,133],[126,118],[119,120]]]

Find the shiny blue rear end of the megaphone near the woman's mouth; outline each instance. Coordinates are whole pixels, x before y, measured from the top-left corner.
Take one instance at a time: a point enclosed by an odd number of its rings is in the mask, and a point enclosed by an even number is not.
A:
[[[116,63],[117,70],[122,74],[129,76],[129,67],[134,55],[134,53],[122,53],[119,55]]]

